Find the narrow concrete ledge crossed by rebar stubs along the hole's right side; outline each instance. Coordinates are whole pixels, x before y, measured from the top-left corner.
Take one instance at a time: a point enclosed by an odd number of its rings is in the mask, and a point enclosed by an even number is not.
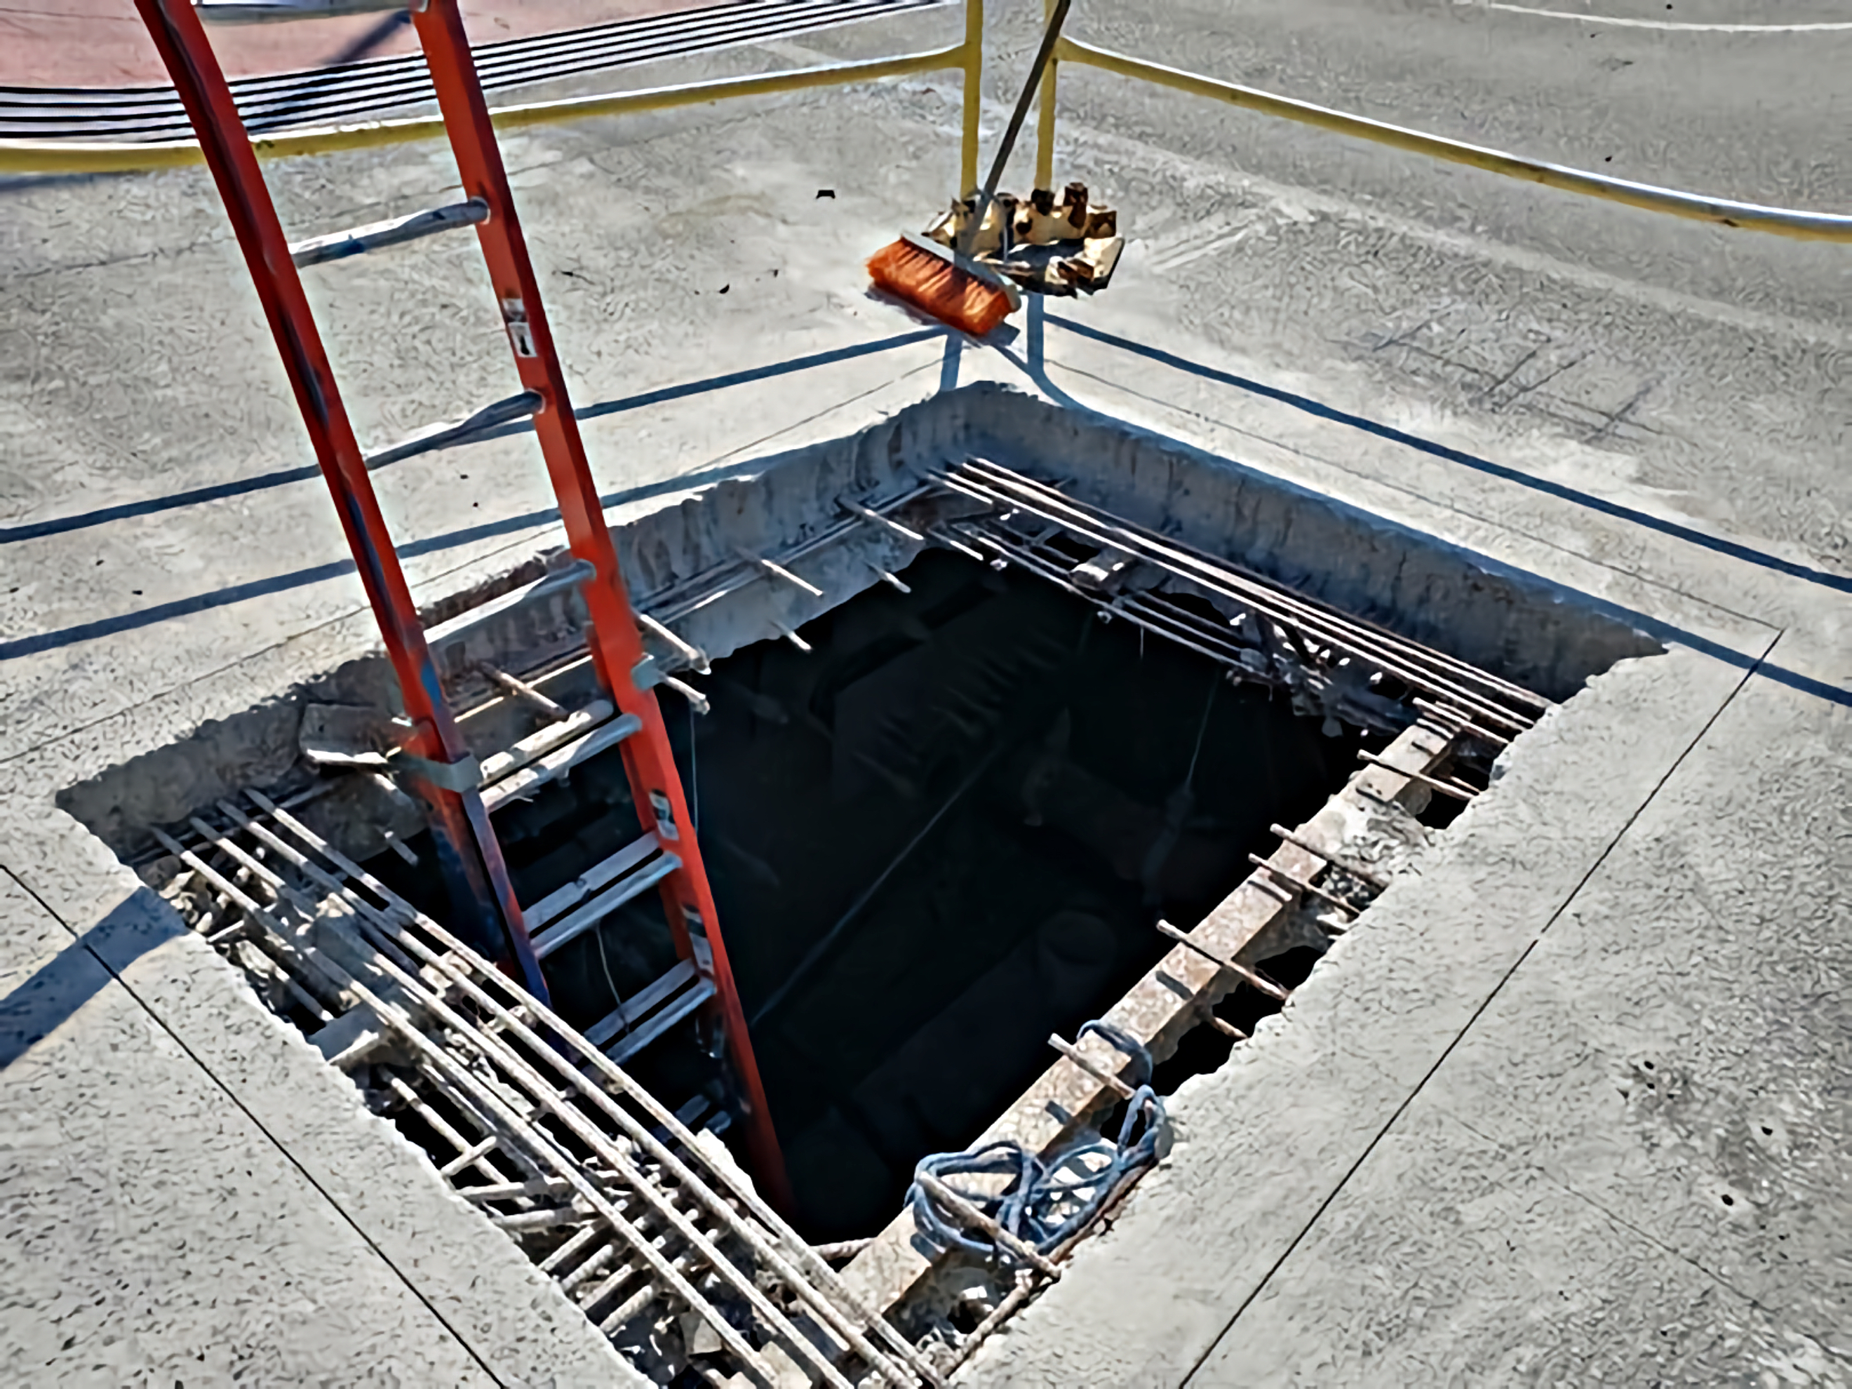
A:
[[[1382,752],[1382,759],[1413,774],[1426,774],[1446,763],[1452,754],[1454,739],[1432,724],[1415,722]],[[1296,826],[1295,835],[1332,854],[1343,854],[1354,828],[1374,813],[1372,804],[1402,806],[1417,813],[1428,796],[1415,776],[1402,776],[1385,765],[1367,765],[1352,774],[1317,815]],[[1270,861],[1300,878],[1311,878],[1326,863],[1291,843],[1282,845]],[[1387,891],[1395,891],[1395,883]],[[1189,937],[1211,956],[1252,965],[1256,946],[1291,915],[1293,906],[1293,898],[1267,891],[1261,870],[1256,870],[1222,898]],[[1367,915],[1352,920],[1352,928],[1363,920]],[[1174,946],[1102,1015],[1106,1022],[1143,1043],[1154,1061],[1176,1052],[1183,1033],[1204,1024],[1208,1011],[1239,983],[1202,950]],[[1261,1030],[1291,1026],[1289,1009],[1291,1004],[1287,1011],[1263,1019]],[[1076,1141],[1089,1137],[1089,1130],[1120,1098],[1100,1076],[1120,1076],[1130,1067],[1130,1057],[1095,1037],[1080,1041],[1076,1050],[1093,1063],[1091,1072],[1072,1059],[1056,1057],[1041,1078],[970,1145],[970,1150],[1011,1139],[1043,1161],[1050,1161]],[[970,1182],[983,1185],[985,1178]],[[1135,1191],[1137,1187],[1132,1189],[1133,1200]],[[913,1211],[902,1209],[848,1263],[843,1278],[859,1298],[896,1317],[939,1272],[965,1259],[956,1250],[932,1245],[919,1232]]]

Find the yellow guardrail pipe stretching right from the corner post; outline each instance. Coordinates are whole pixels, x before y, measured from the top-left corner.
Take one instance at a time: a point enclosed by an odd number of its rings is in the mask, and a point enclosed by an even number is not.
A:
[[[1217,81],[1215,78],[1204,78],[1174,67],[1146,63],[1141,57],[1128,57],[1126,54],[1095,48],[1093,44],[1085,44],[1076,39],[1061,39],[1061,43],[1056,44],[1054,56],[1059,63],[1085,63],[1087,67],[1117,72],[1119,76],[1133,78],[1135,81],[1150,81],[1158,87],[1170,87],[1174,91],[1189,93],[1191,96],[1208,96],[1217,102],[1228,102],[1230,106],[1261,111],[1263,115],[1298,120],[1306,126],[1319,126],[1320,130],[1330,130],[1339,135],[1354,135],[1356,139],[1387,144],[1396,150],[1408,150],[1409,154],[1424,154],[1432,159],[1469,165],[1472,169],[1483,169],[1489,174],[1504,174],[1506,178],[1517,178],[1526,183],[1543,183],[1545,187],[1561,189],[1563,193],[1580,193],[1587,198],[1619,202],[1628,207],[1643,207],[1650,213],[1669,213],[1672,217],[1687,217],[1698,222],[1717,222],[1721,226],[1743,228],[1748,232],[1771,232],[1778,237],[1796,237],[1802,241],[1852,241],[1852,215],[1846,213],[1808,213],[1787,207],[1761,207],[1752,202],[1704,198],[1696,193],[1661,189],[1652,183],[1630,183],[1624,178],[1608,178],[1606,174],[1589,174],[1582,169],[1543,163],[1541,159],[1524,159],[1515,154],[1487,150],[1478,144],[1465,144],[1439,135],[1424,135],[1419,130],[1404,130],[1402,126],[1391,126],[1382,120],[1367,120],[1365,117],[1332,111],[1330,107],[1298,102],[1291,96],[1274,96],[1272,93],[1256,91],[1254,87]]]

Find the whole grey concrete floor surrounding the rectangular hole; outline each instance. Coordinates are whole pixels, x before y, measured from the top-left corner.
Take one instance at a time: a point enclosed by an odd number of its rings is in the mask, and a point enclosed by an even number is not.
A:
[[[991,9],[985,141],[1039,6]],[[1648,181],[1852,206],[1852,37],[1702,28],[1772,22],[1730,0],[1604,9],[1691,28],[1267,0],[1082,6],[1076,33]],[[932,11],[626,78],[956,31]],[[1287,1013],[1176,1096],[1169,1165],[967,1378],[1852,1382],[1845,248],[1104,74],[1063,72],[1061,93],[1057,178],[1119,206],[1132,244],[1107,294],[987,344],[869,298],[859,269],[950,191],[948,74],[511,137],[613,519],[1000,380],[1589,594],[1671,650],[1526,737]],[[270,176],[304,235],[454,181],[435,144]],[[56,995],[63,1017],[0,1067],[4,1132],[50,1135],[0,1172],[0,1365],[617,1378],[519,1254],[52,809],[376,637],[209,180],[20,180],[0,200],[0,867],[61,922],[0,893],[0,1011]],[[511,393],[478,265],[443,239],[311,272],[369,444]],[[519,435],[376,483],[424,600],[557,537]],[[94,950],[72,945],[119,909]],[[22,991],[56,959],[69,974]],[[313,1308],[265,1300],[267,1332],[215,1309],[252,1269]],[[52,1328],[80,1291],[96,1320]]]

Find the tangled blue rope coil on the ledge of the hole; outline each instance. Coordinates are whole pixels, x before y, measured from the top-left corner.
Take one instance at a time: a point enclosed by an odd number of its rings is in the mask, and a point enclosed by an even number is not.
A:
[[[1056,1248],[1085,1230],[1132,1176],[1156,1163],[1170,1135],[1170,1120],[1163,1100],[1150,1087],[1152,1056],[1137,1037],[1095,1019],[1074,1033],[1080,1041],[1098,1033],[1133,1059],[1137,1076],[1119,1137],[1085,1139],[1050,1161],[1043,1161],[1015,1139],[998,1139],[965,1152],[937,1152],[920,1158],[913,1185],[907,1187],[907,1206],[913,1222],[939,1248],[963,1250],[982,1259],[1013,1263],[1015,1256],[982,1232],[965,1230],[952,1211],[941,1209],[919,1180],[920,1174],[945,1182],[952,1191],[976,1206],[1009,1235],[1037,1254]],[[954,1185],[954,1176],[1009,1176],[1000,1193],[970,1191]]]

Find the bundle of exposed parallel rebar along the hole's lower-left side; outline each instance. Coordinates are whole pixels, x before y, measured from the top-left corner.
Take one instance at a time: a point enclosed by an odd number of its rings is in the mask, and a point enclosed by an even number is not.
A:
[[[465,1196],[511,1237],[541,1239],[543,1246],[557,1239],[548,1232],[587,1226],[541,1263],[567,1293],[585,1285],[576,1302],[600,1328],[619,1332],[652,1304],[682,1304],[715,1322],[719,1311],[700,1289],[717,1276],[813,1376],[846,1389],[828,1352],[795,1332],[795,1313],[759,1291],[757,1267],[889,1383],[939,1383],[932,1365],[850,1293],[750,1183],[706,1158],[693,1133],[602,1052],[293,815],[257,793],[248,796],[261,819],[220,802],[232,828],[196,820],[194,830],[211,845],[207,852],[224,854],[270,906],[193,850],[174,841],[170,848],[187,856],[202,883],[246,913],[248,939],[280,967],[315,980],[324,993],[344,995],[346,1002],[332,996],[337,1007],[357,1000],[402,1033],[415,1054],[415,1083],[394,1080],[389,1089],[456,1152],[444,1165],[452,1182],[470,1170],[487,1178],[487,1185],[461,1185]],[[250,835],[267,857],[244,848],[235,833]],[[320,893],[352,917],[319,913]],[[374,969],[393,989],[391,1002],[376,993],[378,985],[369,987],[320,956],[317,932],[293,930],[307,919],[350,933],[350,946],[370,948]],[[641,1109],[641,1117],[626,1106]],[[463,1128],[474,1128],[482,1141],[465,1137]],[[507,1174],[489,1165],[491,1148],[504,1150],[520,1170]],[[574,1152],[589,1152],[591,1161]],[[493,1211],[491,1202],[515,1209]],[[730,1241],[743,1243],[750,1258],[728,1252]],[[580,1256],[589,1258],[572,1267]],[[609,1276],[596,1282],[607,1267]],[[724,1319],[715,1330],[739,1363],[767,1372],[752,1343]]]

